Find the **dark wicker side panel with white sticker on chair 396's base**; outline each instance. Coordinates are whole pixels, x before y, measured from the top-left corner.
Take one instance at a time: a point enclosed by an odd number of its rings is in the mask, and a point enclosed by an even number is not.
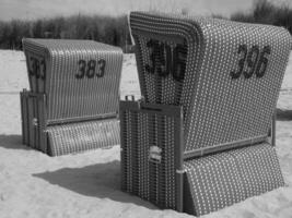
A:
[[[161,208],[182,210],[175,161],[177,118],[121,109],[120,119],[122,190]]]

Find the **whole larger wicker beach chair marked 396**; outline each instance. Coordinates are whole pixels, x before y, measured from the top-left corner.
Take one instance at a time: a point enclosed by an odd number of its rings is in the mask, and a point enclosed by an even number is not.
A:
[[[205,215],[284,185],[269,129],[284,28],[132,12],[142,102],[120,102],[122,190]]]

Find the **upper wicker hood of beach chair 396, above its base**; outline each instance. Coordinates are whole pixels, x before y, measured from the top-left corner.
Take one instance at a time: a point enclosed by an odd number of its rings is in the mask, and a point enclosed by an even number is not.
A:
[[[291,48],[284,28],[147,12],[130,26],[141,93],[183,106],[186,150],[267,135]],[[161,76],[167,61],[179,68]]]

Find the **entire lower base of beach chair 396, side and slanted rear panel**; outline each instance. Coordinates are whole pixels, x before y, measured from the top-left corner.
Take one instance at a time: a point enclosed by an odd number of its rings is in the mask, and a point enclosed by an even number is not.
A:
[[[270,137],[189,153],[184,152],[182,107],[120,101],[121,190],[160,208],[201,216],[283,186],[272,123]],[[206,169],[223,171],[213,177]],[[224,177],[232,179],[214,184]]]

